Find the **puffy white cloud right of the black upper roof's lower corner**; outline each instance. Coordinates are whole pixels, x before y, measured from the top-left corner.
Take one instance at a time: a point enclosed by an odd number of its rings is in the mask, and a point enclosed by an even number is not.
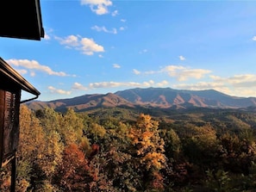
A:
[[[85,37],[82,38],[79,35],[69,35],[64,39],[56,37],[55,39],[59,40],[61,45],[65,45],[68,48],[74,47],[86,55],[93,55],[93,53],[104,52],[103,46],[98,45],[93,39]]]

